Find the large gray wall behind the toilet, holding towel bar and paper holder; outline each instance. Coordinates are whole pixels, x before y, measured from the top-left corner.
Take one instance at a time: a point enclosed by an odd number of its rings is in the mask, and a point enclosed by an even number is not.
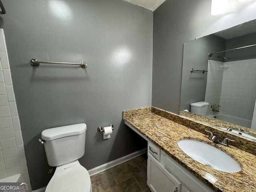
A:
[[[153,13],[120,0],[2,0],[21,130],[32,189],[50,179],[42,130],[85,122],[87,169],[146,147],[122,110],[151,105]],[[58,4],[60,3],[60,4]],[[64,10],[64,11],[63,11]],[[86,62],[30,66],[31,58]],[[103,140],[98,126],[114,124]]]

